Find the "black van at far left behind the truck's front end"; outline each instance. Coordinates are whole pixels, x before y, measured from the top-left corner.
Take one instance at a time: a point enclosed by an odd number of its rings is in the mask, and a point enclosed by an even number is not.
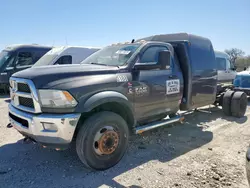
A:
[[[52,47],[40,45],[11,45],[0,53],[0,89],[8,91],[12,74],[30,68]]]

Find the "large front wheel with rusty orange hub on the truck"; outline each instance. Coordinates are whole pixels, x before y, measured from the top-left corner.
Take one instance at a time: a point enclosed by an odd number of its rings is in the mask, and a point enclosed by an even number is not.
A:
[[[113,112],[99,112],[88,118],[76,137],[76,151],[85,167],[106,170],[116,165],[128,146],[126,121]]]

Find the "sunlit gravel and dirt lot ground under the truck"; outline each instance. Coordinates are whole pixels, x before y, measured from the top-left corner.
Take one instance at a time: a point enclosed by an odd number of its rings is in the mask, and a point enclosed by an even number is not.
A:
[[[8,124],[8,98],[0,98],[0,188],[36,187],[249,187],[246,117],[195,112],[185,123],[135,135],[122,161],[103,172],[82,167],[75,150],[55,151],[23,143]]]

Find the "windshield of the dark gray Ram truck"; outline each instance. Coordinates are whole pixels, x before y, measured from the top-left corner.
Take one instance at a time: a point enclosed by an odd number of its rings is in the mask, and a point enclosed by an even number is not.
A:
[[[141,44],[121,44],[105,47],[87,57],[81,64],[102,64],[108,66],[122,66]]]

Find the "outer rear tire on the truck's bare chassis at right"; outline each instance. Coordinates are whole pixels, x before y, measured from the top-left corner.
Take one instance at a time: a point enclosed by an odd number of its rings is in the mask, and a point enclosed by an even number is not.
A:
[[[234,93],[231,101],[231,112],[234,117],[243,117],[247,110],[247,95],[244,92]]]

